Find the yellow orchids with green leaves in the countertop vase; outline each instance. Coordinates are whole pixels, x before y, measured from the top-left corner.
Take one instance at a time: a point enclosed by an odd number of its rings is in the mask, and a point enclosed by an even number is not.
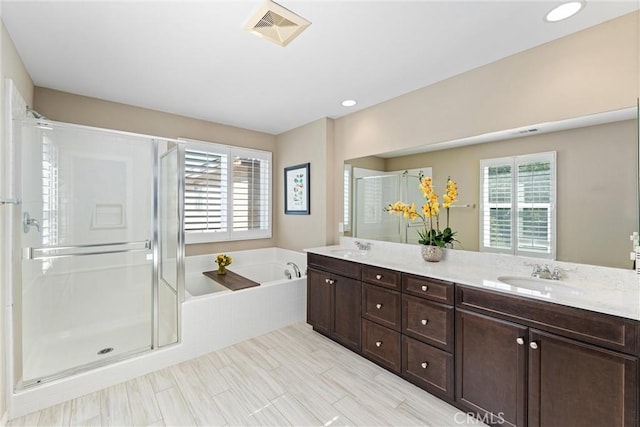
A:
[[[433,189],[433,179],[430,176],[424,176],[422,172],[418,177],[420,180],[420,190],[425,198],[425,203],[422,205],[422,212],[416,210],[416,204],[412,203],[408,205],[404,202],[391,203],[385,208],[385,211],[390,214],[396,213],[403,215],[406,219],[414,221],[418,218],[422,220],[423,229],[418,230],[421,245],[445,247],[447,245],[453,245],[455,239],[455,232],[449,227],[449,208],[458,198],[458,187],[456,183],[451,180],[451,177],[447,178],[447,186],[445,194],[442,196],[442,207],[447,212],[447,224],[444,230],[440,230],[440,202],[438,201],[438,195]]]

